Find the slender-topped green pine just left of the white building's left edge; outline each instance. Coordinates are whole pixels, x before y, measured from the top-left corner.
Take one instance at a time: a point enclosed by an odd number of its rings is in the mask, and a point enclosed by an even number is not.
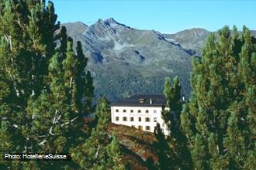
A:
[[[110,143],[107,128],[110,119],[110,108],[106,98],[98,101],[95,113],[95,128],[90,137],[82,145],[72,151],[75,162],[82,168],[102,169],[106,164],[106,145]]]

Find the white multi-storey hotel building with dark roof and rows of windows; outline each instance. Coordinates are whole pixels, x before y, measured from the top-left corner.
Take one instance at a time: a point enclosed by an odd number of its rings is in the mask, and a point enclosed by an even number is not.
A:
[[[161,118],[165,107],[164,95],[135,95],[111,104],[111,120],[114,124],[123,124],[143,131],[154,132],[157,123],[165,135],[168,128]]]

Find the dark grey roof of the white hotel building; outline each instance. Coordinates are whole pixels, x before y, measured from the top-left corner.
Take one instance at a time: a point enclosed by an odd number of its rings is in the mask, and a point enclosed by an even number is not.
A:
[[[127,97],[123,100],[117,100],[111,106],[129,106],[129,107],[163,107],[166,104],[164,95],[161,94],[140,94]]]

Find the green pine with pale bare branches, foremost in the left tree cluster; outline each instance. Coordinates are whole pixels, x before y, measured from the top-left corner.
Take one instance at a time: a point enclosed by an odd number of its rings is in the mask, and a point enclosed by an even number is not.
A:
[[[64,87],[64,75],[59,62],[60,54],[56,53],[50,59],[49,65],[49,89],[45,89],[40,94],[40,97],[33,100],[29,99],[27,112],[33,117],[31,132],[36,141],[35,150],[40,152],[65,152],[62,146],[66,142],[64,138],[64,125],[69,122],[67,95]],[[49,107],[51,106],[51,107]],[[41,138],[42,136],[42,138]]]

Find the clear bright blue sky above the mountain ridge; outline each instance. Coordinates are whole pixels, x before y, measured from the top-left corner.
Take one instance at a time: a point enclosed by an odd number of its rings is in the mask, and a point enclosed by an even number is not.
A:
[[[256,30],[256,0],[52,0],[61,23],[113,18],[136,29],[174,33],[245,25]]]

